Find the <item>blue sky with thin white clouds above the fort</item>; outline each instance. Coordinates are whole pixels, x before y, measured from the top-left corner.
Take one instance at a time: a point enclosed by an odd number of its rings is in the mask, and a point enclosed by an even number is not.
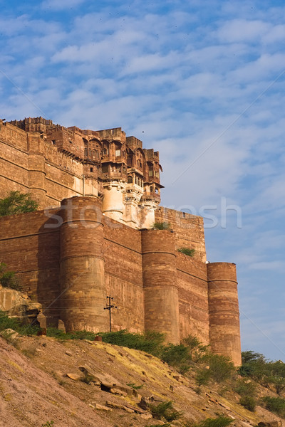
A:
[[[158,149],[162,204],[216,216],[208,260],[237,263],[243,349],[285,361],[284,2],[0,6],[1,118],[123,127]]]

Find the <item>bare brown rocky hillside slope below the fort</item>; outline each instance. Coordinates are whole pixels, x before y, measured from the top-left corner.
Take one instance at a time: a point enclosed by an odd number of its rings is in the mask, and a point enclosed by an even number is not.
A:
[[[249,412],[239,396],[221,386],[195,389],[194,373],[187,378],[150,354],[102,342],[47,337],[17,337],[14,346],[0,338],[0,426],[145,427],[162,424],[138,403],[172,401],[183,411],[173,426],[224,414],[231,426],[257,426],[280,418],[257,408]],[[15,348],[16,347],[16,348]],[[88,381],[90,381],[89,384]],[[83,380],[83,381],[82,381]],[[84,382],[86,381],[86,382]],[[131,386],[128,384],[131,384]],[[134,387],[142,386],[138,391]],[[264,395],[271,391],[264,389]],[[271,424],[274,426],[274,424]]]

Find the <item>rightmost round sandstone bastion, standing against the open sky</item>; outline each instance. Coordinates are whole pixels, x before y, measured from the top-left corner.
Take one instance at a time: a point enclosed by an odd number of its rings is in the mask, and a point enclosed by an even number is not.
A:
[[[209,340],[214,353],[242,364],[236,265],[208,263]]]

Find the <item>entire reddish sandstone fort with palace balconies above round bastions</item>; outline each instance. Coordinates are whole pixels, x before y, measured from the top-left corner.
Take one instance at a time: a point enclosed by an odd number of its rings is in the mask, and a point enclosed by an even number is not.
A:
[[[160,206],[161,170],[158,152],[121,128],[0,120],[0,199],[30,193],[40,209],[0,218],[0,261],[48,325],[106,331],[112,295],[113,330],[174,344],[192,334],[239,365],[236,266],[207,262],[201,217]]]

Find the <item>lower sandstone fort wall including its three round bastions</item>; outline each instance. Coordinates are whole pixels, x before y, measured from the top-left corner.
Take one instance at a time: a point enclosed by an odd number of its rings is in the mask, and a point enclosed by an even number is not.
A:
[[[0,230],[0,260],[43,304],[48,325],[108,330],[112,295],[113,330],[157,330],[174,343],[193,334],[240,363],[235,265],[177,252],[179,232],[125,226],[93,197],[0,218]]]

